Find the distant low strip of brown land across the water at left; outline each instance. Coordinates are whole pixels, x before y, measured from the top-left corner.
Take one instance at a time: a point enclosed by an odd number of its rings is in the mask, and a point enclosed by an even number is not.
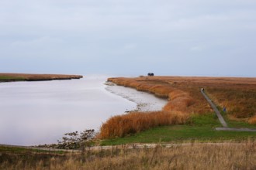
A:
[[[81,79],[81,75],[0,73],[0,82]]]

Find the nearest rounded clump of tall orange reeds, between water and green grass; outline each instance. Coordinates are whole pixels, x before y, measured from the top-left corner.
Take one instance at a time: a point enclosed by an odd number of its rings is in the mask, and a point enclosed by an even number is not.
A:
[[[154,128],[160,125],[184,124],[189,118],[188,114],[182,112],[133,112],[129,114],[110,117],[102,124],[99,138],[123,137],[140,131]]]

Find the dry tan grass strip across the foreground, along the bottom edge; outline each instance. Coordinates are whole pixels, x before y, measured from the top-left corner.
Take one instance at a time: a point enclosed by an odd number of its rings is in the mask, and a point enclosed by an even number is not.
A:
[[[81,153],[0,147],[0,169],[255,169],[255,153],[250,140]]]

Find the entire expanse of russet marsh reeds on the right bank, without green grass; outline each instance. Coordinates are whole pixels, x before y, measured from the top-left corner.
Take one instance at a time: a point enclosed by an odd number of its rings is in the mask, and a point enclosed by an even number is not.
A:
[[[162,125],[185,124],[192,115],[212,113],[200,93],[202,87],[220,110],[227,108],[223,113],[227,121],[237,121],[245,126],[255,124],[254,78],[140,76],[109,78],[109,81],[168,98],[168,104],[157,112],[133,112],[111,117],[102,124],[100,138],[123,137]]]

